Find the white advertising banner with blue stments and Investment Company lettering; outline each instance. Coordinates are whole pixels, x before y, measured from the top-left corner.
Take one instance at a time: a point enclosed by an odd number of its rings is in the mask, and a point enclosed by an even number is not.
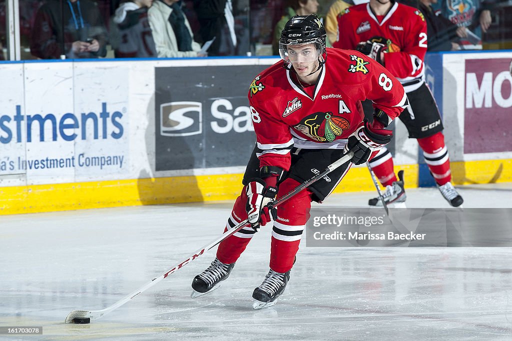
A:
[[[18,96],[0,115],[0,175],[27,184],[96,180],[128,169],[128,78],[125,68],[95,63],[23,65],[4,82]],[[112,89],[116,89],[112,91]],[[23,94],[30,94],[24,98]]]

